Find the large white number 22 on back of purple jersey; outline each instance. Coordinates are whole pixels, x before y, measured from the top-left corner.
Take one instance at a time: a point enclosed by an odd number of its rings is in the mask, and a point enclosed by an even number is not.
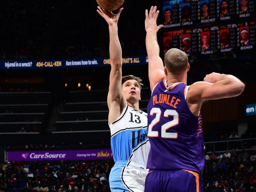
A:
[[[152,128],[160,121],[160,117],[162,114],[160,108],[152,108],[150,111],[150,115],[152,116],[154,114],[156,114],[155,119],[153,119],[151,124],[148,125],[148,137],[158,137],[158,131],[152,131]],[[178,137],[178,133],[170,133],[166,131],[171,127],[179,124],[179,114],[175,110],[166,109],[164,111],[164,117],[168,118],[169,116],[173,116],[173,120],[161,126],[161,137],[176,139]]]

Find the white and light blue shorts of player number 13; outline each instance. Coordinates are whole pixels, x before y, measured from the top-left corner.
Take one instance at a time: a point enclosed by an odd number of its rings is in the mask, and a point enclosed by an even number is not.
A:
[[[131,161],[117,161],[109,175],[111,192],[144,192],[148,169]]]

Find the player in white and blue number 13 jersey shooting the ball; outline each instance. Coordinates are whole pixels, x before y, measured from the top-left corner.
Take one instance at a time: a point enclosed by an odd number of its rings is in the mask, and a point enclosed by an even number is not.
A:
[[[144,192],[150,144],[147,114],[139,109],[141,79],[132,75],[122,77],[122,49],[118,39],[117,14],[98,6],[97,12],[108,23],[110,77],[108,92],[108,124],[115,161],[109,176],[112,192]]]

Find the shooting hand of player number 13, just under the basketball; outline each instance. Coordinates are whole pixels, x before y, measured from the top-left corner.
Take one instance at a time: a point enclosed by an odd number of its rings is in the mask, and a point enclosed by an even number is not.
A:
[[[114,25],[117,24],[120,13],[123,9],[124,8],[120,8],[116,14],[113,14],[112,11],[104,10],[98,6],[97,12],[107,21],[108,25]]]

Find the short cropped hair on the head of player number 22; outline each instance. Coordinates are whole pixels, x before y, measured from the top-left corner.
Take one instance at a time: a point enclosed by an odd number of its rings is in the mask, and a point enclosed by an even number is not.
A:
[[[185,52],[172,48],[164,56],[164,65],[170,73],[179,75],[188,67],[188,56]]]

